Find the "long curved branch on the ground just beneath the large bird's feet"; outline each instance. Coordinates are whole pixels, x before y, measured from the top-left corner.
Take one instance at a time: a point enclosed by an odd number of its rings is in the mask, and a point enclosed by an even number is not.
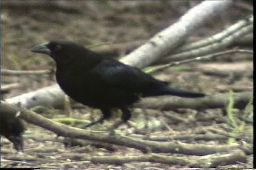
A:
[[[47,119],[33,111],[17,107],[1,101],[1,114],[6,112],[8,114],[19,115],[21,119],[26,120],[28,123],[43,127],[53,131],[58,136],[86,139],[97,142],[111,143],[115,145],[132,147],[142,150],[142,152],[164,152],[164,153],[183,153],[192,155],[206,155],[217,152],[228,152],[230,150],[239,149],[238,144],[232,145],[203,145],[203,144],[188,144],[181,142],[155,142],[146,141],[142,139],[135,139],[127,136],[110,136],[105,132],[88,131],[70,127],[62,123],[58,123]],[[18,114],[17,114],[18,113]]]

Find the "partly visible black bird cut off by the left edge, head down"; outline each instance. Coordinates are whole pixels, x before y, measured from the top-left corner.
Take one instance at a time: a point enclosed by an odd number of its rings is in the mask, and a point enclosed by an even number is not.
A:
[[[18,117],[1,112],[0,135],[9,139],[17,152],[23,151],[23,131],[25,130],[24,124]]]

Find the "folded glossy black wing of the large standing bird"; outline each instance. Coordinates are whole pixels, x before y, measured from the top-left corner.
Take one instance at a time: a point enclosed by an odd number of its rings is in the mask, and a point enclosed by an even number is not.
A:
[[[154,89],[168,85],[168,82],[156,80],[138,68],[125,65],[112,59],[104,59],[92,70],[107,86],[131,89],[134,91]]]

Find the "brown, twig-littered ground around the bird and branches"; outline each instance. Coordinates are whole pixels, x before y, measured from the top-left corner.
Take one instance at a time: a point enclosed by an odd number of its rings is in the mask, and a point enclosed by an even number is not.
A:
[[[10,70],[50,70],[54,68],[54,61],[50,57],[34,54],[30,49],[42,42],[53,39],[68,39],[85,46],[102,45],[106,43],[130,43],[146,41],[154,33],[164,29],[177,21],[188,9],[199,1],[1,1],[1,69]],[[218,33],[251,14],[252,4],[240,1],[220,18],[211,19],[205,27],[198,29],[191,36],[204,39]],[[242,7],[239,8],[241,5]],[[246,46],[251,49],[252,46]],[[122,49],[113,57],[125,53]],[[178,67],[167,68],[157,72],[158,79],[172,82],[180,88],[218,94],[233,89],[235,92],[253,90],[253,76],[248,76],[253,70],[251,54],[234,54],[227,57],[215,58],[212,61],[189,63]],[[201,68],[216,70],[241,70],[243,74],[234,80],[230,76],[208,75]],[[231,80],[232,79],[232,80]],[[12,75],[1,76],[3,84],[15,86],[8,92],[2,92],[1,100],[56,84],[55,78],[48,75]],[[242,89],[242,90],[241,90]],[[44,109],[35,110],[48,118],[66,117],[65,110]],[[238,144],[249,146],[247,150],[238,150],[246,160],[235,162],[222,162],[218,168],[252,168],[253,167],[253,121],[242,121],[238,115],[244,110],[235,109],[235,117],[239,122],[245,122],[242,131],[234,135],[234,128],[230,125],[223,109],[206,109],[196,111],[193,109],[154,110],[146,109],[150,115],[149,123],[162,120],[152,126],[152,136],[170,136],[168,141],[177,141],[189,144],[226,145]],[[75,119],[90,119],[91,110],[87,107],[74,108],[72,117]],[[100,116],[95,111],[94,117]],[[138,129],[132,131],[144,135],[143,109],[134,108],[130,120]],[[250,109],[250,116],[252,115]],[[168,119],[169,113],[173,119]],[[92,129],[105,129],[116,120],[111,119],[103,125]],[[78,127],[79,125],[73,125]],[[115,163],[97,162],[100,156],[116,156],[126,158],[132,156],[145,156],[146,153],[130,147],[116,145],[95,145],[90,141],[65,140],[36,125],[26,124],[24,132],[24,152],[16,154],[12,144],[1,137],[1,168],[188,168],[189,165],[161,161],[143,161],[134,158],[132,161],[116,161]],[[119,128],[128,131],[126,125]],[[186,135],[194,137],[185,137]],[[204,135],[204,137],[198,137]],[[216,137],[207,138],[211,135]],[[173,139],[172,139],[173,137]],[[177,139],[175,138],[177,137]],[[183,137],[183,138],[182,138]],[[234,140],[233,140],[234,139]],[[231,144],[232,143],[232,144]],[[220,153],[227,154],[230,152]],[[149,153],[148,153],[149,154]],[[158,153],[165,156],[186,156],[194,159],[193,154]],[[94,160],[92,159],[94,158]],[[175,161],[174,161],[175,162]]]

